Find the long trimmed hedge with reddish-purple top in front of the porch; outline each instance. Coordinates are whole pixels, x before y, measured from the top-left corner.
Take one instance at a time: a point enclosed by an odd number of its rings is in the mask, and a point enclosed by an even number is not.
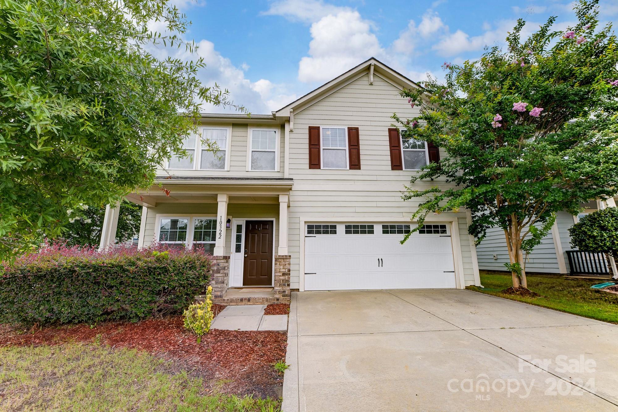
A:
[[[5,264],[0,323],[68,324],[180,314],[210,281],[203,251],[44,246]]]

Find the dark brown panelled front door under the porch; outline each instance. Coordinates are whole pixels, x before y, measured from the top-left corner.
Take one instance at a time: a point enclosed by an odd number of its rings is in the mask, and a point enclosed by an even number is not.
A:
[[[243,286],[273,285],[273,221],[245,223],[245,270]]]

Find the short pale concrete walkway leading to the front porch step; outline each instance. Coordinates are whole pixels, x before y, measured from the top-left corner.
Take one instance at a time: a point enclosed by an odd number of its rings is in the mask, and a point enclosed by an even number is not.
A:
[[[224,330],[287,330],[287,315],[265,315],[266,305],[227,306],[212,328]]]

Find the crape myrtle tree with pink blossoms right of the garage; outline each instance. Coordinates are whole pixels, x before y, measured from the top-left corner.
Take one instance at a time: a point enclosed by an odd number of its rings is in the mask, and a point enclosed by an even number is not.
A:
[[[467,208],[477,242],[488,228],[504,230],[515,290],[527,288],[524,252],[548,234],[556,212],[577,213],[582,202],[618,191],[616,36],[611,24],[599,27],[597,1],[580,1],[575,13],[566,32],[552,31],[550,17],[523,40],[519,20],[506,51],[445,63],[444,84],[430,79],[401,92],[420,115],[393,115],[404,134],[446,152],[412,184],[453,184],[408,187],[404,199],[420,199],[412,218],[420,226],[430,213]]]

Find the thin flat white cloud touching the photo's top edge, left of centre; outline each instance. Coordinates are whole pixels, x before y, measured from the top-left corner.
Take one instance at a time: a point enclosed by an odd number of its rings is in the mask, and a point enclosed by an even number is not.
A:
[[[341,11],[352,11],[352,9],[326,4],[322,0],[278,0],[271,3],[270,8],[260,14],[281,15],[294,22],[313,23],[322,17]]]

